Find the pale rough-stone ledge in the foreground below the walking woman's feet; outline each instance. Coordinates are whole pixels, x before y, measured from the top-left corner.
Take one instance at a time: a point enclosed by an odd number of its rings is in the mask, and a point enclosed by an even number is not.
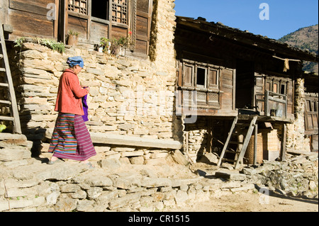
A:
[[[207,179],[170,156],[143,165],[103,159],[95,169],[72,161],[42,164],[30,152],[21,156],[28,164],[12,167],[2,157],[0,211],[163,211],[254,188],[245,183],[245,174]],[[172,157],[183,162],[178,151]]]

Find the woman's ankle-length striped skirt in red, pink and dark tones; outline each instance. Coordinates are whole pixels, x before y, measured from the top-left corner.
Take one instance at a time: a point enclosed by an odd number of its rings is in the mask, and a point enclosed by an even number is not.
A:
[[[84,161],[96,155],[91,136],[81,115],[59,113],[49,152],[61,159]]]

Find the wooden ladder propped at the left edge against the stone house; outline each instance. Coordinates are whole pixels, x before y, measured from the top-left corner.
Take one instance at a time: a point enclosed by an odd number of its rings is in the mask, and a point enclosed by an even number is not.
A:
[[[0,73],[4,73],[4,81],[0,80],[0,88],[6,89],[8,93],[7,100],[3,100],[4,96],[0,97],[0,105],[9,106],[11,116],[0,115],[0,121],[12,121],[13,122],[13,133],[21,134],[20,118],[18,113],[18,106],[16,103],[16,94],[14,92],[13,81],[11,77],[11,71],[9,66],[8,54],[6,52],[6,42],[4,40],[4,29],[0,23]],[[1,78],[1,77],[0,77]],[[3,88],[4,87],[4,88]]]

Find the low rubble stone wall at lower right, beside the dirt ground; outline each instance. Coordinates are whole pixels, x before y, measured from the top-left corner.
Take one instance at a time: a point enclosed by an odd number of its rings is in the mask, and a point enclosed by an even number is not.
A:
[[[249,181],[279,189],[289,196],[318,196],[318,153],[290,156],[286,162],[267,162],[256,169],[242,169]]]

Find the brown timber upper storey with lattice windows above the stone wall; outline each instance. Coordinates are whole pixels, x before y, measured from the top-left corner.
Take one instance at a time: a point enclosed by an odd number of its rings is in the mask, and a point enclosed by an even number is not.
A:
[[[9,40],[38,37],[65,43],[68,31],[74,30],[79,42],[98,44],[102,37],[131,32],[131,50],[148,53],[152,0],[4,0],[0,6],[0,21],[11,26]]]

